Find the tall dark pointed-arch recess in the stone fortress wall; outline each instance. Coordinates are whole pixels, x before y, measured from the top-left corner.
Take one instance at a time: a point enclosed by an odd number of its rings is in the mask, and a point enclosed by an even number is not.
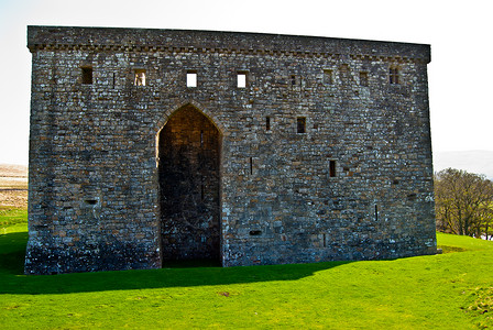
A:
[[[220,133],[194,106],[158,133],[163,263],[220,261]]]

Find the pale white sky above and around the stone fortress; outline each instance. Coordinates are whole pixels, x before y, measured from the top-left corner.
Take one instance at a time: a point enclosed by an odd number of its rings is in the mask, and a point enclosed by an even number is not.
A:
[[[487,0],[0,0],[0,164],[28,164],[26,25],[215,30],[431,45],[434,152],[493,151]],[[485,61],[487,59],[487,61]]]

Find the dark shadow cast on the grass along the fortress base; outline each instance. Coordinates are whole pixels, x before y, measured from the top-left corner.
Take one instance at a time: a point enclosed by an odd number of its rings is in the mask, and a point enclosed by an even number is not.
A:
[[[24,237],[22,237],[22,234]],[[0,254],[0,294],[44,295],[105,290],[128,290],[202,285],[228,285],[271,280],[295,280],[350,262],[325,262],[248,267],[173,267],[146,271],[22,275],[26,234],[0,237],[15,242],[17,251]],[[19,241],[22,241],[19,244]],[[12,250],[12,248],[10,248]],[[4,250],[1,250],[3,252]],[[176,266],[176,265],[174,265]]]

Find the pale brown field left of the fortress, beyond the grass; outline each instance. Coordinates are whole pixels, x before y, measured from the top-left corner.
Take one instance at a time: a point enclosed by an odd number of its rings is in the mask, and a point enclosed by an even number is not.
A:
[[[0,164],[0,208],[28,208],[28,167]]]

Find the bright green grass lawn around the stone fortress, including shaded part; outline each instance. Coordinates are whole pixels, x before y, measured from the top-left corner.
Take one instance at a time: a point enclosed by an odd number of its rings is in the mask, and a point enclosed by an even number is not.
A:
[[[493,327],[491,242],[439,234],[446,253],[393,261],[25,276],[25,222],[2,217],[2,329]]]

